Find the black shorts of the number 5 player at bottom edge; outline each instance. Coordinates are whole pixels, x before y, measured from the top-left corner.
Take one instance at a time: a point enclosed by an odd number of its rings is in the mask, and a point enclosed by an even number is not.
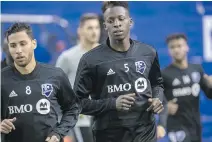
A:
[[[94,131],[95,142],[156,142],[156,125],[139,125]]]

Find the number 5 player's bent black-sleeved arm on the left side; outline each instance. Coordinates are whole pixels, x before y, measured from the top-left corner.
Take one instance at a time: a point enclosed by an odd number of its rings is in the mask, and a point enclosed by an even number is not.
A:
[[[115,110],[115,99],[89,99],[89,95],[92,94],[93,86],[95,85],[93,80],[92,68],[89,67],[84,57],[82,57],[78,65],[74,83],[74,91],[82,101],[82,114],[98,115],[111,109]]]

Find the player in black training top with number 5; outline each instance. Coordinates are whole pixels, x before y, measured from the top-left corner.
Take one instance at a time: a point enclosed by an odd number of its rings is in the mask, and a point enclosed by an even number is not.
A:
[[[109,38],[84,54],[75,79],[82,113],[94,116],[96,142],[154,142],[154,113],[163,110],[157,52],[130,39],[127,2],[107,1],[102,10]]]

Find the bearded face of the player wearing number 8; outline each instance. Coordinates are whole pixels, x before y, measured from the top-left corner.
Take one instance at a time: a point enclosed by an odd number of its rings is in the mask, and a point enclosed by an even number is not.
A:
[[[26,31],[11,34],[8,37],[8,46],[11,56],[18,66],[25,67],[34,58],[36,40],[32,40]]]

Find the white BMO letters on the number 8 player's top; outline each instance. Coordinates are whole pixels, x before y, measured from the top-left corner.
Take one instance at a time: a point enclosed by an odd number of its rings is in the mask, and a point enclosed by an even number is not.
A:
[[[32,108],[33,107],[31,104],[25,104],[20,106],[8,106],[9,114],[31,112]]]

